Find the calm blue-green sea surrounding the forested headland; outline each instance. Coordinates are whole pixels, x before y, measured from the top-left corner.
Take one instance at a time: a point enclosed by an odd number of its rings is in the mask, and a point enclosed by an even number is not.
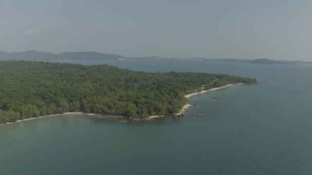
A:
[[[191,97],[188,103],[197,106],[178,120],[116,123],[69,115],[0,126],[0,174],[312,174],[312,65],[75,63],[233,74],[261,84]]]

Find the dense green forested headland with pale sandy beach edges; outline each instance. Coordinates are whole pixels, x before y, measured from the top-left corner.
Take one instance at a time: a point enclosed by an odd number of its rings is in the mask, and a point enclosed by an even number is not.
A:
[[[109,65],[0,61],[0,124],[85,112],[147,118],[173,116],[186,94],[255,78],[207,73],[148,73]]]

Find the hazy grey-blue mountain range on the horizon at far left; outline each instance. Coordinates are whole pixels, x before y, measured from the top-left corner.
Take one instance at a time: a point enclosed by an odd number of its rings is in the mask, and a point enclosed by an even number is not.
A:
[[[170,59],[166,57],[125,57],[121,55],[105,54],[99,52],[63,52],[53,54],[49,52],[23,51],[1,52],[0,60],[33,60],[33,61],[61,61],[61,60],[125,60],[125,59]]]

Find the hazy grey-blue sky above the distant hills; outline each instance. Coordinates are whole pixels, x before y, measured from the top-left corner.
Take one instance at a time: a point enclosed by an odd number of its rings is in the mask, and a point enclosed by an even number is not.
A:
[[[0,0],[0,50],[312,60],[311,9],[311,0]]]

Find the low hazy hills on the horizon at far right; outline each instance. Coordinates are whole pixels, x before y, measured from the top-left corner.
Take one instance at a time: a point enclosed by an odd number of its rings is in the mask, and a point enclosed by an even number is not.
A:
[[[246,62],[253,64],[312,64],[312,61],[286,61],[286,60],[272,60],[272,59],[237,59],[237,58],[223,58],[223,59],[205,59],[209,61],[224,61],[224,62]]]

